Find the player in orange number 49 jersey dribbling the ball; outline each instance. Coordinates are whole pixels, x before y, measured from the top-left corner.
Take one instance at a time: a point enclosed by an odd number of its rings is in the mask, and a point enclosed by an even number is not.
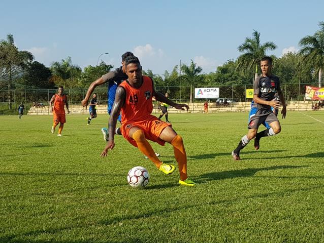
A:
[[[153,87],[153,80],[148,76],[142,76],[141,64],[137,57],[126,58],[125,70],[128,78],[117,88],[115,102],[109,118],[109,140],[101,156],[107,156],[108,150],[115,147],[115,129],[121,111],[121,133],[123,137],[133,146],[138,147],[165,174],[171,174],[175,167],[160,161],[147,139],[160,145],[164,145],[166,142],[170,143],[173,146],[179,166],[179,184],[195,186],[196,183],[187,176],[187,155],[181,136],[171,128],[171,124],[151,115],[153,96],[157,101],[164,102],[176,109],[184,110],[184,108],[188,109],[189,107],[186,104],[174,103],[163,94],[156,92]]]

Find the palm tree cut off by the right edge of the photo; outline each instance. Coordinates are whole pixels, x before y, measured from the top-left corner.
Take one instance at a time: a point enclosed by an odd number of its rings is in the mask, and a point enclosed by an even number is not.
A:
[[[305,63],[315,68],[315,73],[318,73],[318,87],[321,87],[324,70],[324,22],[319,22],[318,26],[320,30],[314,35],[307,35],[300,40],[299,46],[302,49],[299,53],[304,56]]]

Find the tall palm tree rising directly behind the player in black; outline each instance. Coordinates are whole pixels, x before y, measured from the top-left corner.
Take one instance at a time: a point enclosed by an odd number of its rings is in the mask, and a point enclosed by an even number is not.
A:
[[[253,37],[246,37],[245,42],[237,48],[239,52],[244,53],[238,57],[237,68],[242,71],[245,69],[254,69],[253,73],[255,79],[258,76],[261,59],[266,56],[268,50],[274,51],[277,46],[274,42],[266,42],[261,45],[260,32],[254,29],[253,31]]]

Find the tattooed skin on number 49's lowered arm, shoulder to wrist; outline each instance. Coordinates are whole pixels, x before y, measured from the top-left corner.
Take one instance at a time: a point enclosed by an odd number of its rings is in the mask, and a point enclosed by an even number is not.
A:
[[[118,87],[116,90],[115,102],[113,104],[108,123],[110,140],[114,140],[118,115],[120,114],[121,107],[124,105],[125,98],[126,92],[124,88]]]

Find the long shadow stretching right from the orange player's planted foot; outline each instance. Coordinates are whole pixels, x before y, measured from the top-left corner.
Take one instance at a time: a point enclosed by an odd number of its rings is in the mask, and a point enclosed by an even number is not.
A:
[[[198,183],[205,183],[207,181],[212,181],[212,180],[233,179],[237,177],[250,177],[250,176],[254,176],[254,174],[259,171],[297,169],[303,167],[309,167],[309,166],[272,166],[266,168],[248,168],[248,169],[236,170],[236,171],[222,171],[222,172],[215,172],[215,173],[206,173],[200,175],[199,177],[195,177],[194,180]]]

